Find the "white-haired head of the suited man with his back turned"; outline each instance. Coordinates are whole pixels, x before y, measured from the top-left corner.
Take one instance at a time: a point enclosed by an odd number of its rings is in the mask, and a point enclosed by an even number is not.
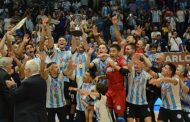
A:
[[[33,74],[38,74],[40,70],[39,65],[34,60],[27,61],[24,69],[26,77],[30,77]]]

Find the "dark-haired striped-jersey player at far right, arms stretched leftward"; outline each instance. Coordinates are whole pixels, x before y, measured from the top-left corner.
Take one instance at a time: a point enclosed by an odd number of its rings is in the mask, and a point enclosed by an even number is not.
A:
[[[180,81],[175,76],[176,66],[172,63],[166,64],[161,73],[149,70],[154,78],[149,84],[161,87],[162,104],[159,110],[158,122],[183,122],[182,107],[180,101]]]

